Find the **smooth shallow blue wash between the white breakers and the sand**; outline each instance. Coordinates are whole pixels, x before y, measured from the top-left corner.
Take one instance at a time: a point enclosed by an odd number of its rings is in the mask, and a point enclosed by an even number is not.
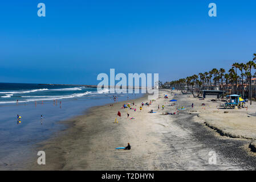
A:
[[[143,97],[144,94],[120,95],[116,101],[127,100],[128,96],[131,100]],[[0,169],[22,170],[26,166],[30,166],[30,163],[34,162],[34,158],[37,160],[37,154],[40,151],[37,148],[40,148],[43,142],[62,136],[68,127],[74,125],[68,121],[87,114],[91,108],[114,103],[112,97],[109,99],[109,96],[104,94],[91,98],[62,100],[61,106],[59,103],[52,104],[50,101],[43,104],[38,103],[37,106],[34,104],[5,105],[3,111],[6,111],[5,115],[10,118],[6,118],[6,122],[5,120],[1,122],[1,131],[3,131],[1,136],[5,135],[6,138],[2,138]],[[15,113],[8,113],[9,110],[15,110]],[[17,125],[16,119],[14,119],[14,123],[12,122],[11,116],[17,113],[22,115],[21,125]],[[41,114],[43,114],[42,123],[40,123]],[[9,130],[6,131],[6,128]],[[10,133],[13,133],[11,137],[8,135]]]

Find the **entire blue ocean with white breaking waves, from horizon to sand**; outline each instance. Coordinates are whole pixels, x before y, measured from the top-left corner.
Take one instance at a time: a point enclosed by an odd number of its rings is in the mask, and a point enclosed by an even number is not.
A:
[[[33,149],[37,143],[67,127],[59,121],[83,114],[92,106],[142,96],[108,91],[97,92],[96,88],[84,86],[0,83],[0,169],[19,169],[26,159],[36,156]]]

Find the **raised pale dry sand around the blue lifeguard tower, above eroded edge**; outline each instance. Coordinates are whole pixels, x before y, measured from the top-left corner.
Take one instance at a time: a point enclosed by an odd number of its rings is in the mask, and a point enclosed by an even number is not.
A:
[[[255,113],[255,102],[252,105],[246,103],[248,109],[224,109],[220,105],[225,102],[212,102],[210,98],[200,101],[198,98],[190,97],[188,100],[194,102],[196,108],[193,110],[196,110],[202,121],[221,135],[231,138],[256,139],[256,117],[247,114]],[[202,103],[206,106],[201,106]]]

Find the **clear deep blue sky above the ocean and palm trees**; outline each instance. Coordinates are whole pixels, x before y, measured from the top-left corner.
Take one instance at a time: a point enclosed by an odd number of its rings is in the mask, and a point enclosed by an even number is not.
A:
[[[0,21],[0,82],[96,84],[109,68],[170,81],[256,53],[255,0],[1,1]]]

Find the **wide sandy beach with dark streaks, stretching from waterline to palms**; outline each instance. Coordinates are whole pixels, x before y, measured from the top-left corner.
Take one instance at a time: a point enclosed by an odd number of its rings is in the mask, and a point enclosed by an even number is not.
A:
[[[164,94],[169,98],[165,99]],[[35,156],[23,169],[32,170],[251,170],[256,158],[249,150],[251,140],[222,136],[205,122],[218,127],[224,110],[207,100],[187,97],[179,92],[161,90],[160,98],[152,105],[147,96],[134,100],[136,111],[121,109],[127,102],[113,106],[92,107],[85,115],[64,123],[70,127],[38,144],[36,150],[46,152],[46,165],[38,165]],[[191,95],[190,95],[191,96]],[[178,100],[171,106],[169,100]],[[206,104],[206,109],[201,103]],[[194,103],[194,108],[191,104]],[[160,105],[160,110],[158,109]],[[165,109],[161,110],[164,105]],[[177,106],[186,109],[178,112]],[[253,109],[253,107],[251,107]],[[148,113],[150,110],[156,113]],[[121,117],[117,117],[120,111]],[[176,115],[162,115],[164,112]],[[233,110],[234,112],[237,110]],[[128,119],[127,113],[129,113]],[[231,114],[226,114],[230,115]],[[225,116],[226,116],[225,115]],[[115,123],[117,118],[118,123]],[[224,119],[230,125],[230,118]],[[215,125],[215,123],[217,123]],[[231,131],[222,122],[222,126]],[[232,123],[234,125],[234,123]],[[250,127],[253,130],[253,127]],[[241,133],[243,128],[241,128]],[[245,132],[247,133],[247,132]],[[240,135],[240,134],[239,134]],[[131,144],[131,150],[116,150],[116,147]],[[217,154],[217,164],[209,164],[209,152]]]

